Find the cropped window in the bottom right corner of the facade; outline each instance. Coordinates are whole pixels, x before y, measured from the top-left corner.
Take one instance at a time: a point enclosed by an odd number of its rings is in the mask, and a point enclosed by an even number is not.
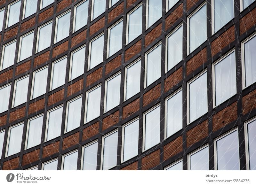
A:
[[[250,170],[256,170],[256,120],[247,124]]]

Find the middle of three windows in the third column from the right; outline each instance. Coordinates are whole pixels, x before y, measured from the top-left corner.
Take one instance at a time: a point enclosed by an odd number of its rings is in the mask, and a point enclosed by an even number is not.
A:
[[[207,112],[207,72],[188,83],[188,123]]]

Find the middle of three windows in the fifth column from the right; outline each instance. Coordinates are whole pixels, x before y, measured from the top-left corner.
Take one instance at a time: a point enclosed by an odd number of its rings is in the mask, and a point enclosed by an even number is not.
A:
[[[161,43],[145,55],[145,87],[161,77]]]

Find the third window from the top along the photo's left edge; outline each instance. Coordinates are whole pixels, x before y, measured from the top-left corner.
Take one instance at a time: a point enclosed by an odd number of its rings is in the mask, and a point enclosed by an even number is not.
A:
[[[0,113],[7,111],[9,106],[11,83],[0,87]],[[0,153],[1,156],[1,153]]]

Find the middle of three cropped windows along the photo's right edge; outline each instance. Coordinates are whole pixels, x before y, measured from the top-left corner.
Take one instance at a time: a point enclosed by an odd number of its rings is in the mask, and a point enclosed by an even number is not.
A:
[[[256,81],[256,36],[244,43],[245,86]]]

